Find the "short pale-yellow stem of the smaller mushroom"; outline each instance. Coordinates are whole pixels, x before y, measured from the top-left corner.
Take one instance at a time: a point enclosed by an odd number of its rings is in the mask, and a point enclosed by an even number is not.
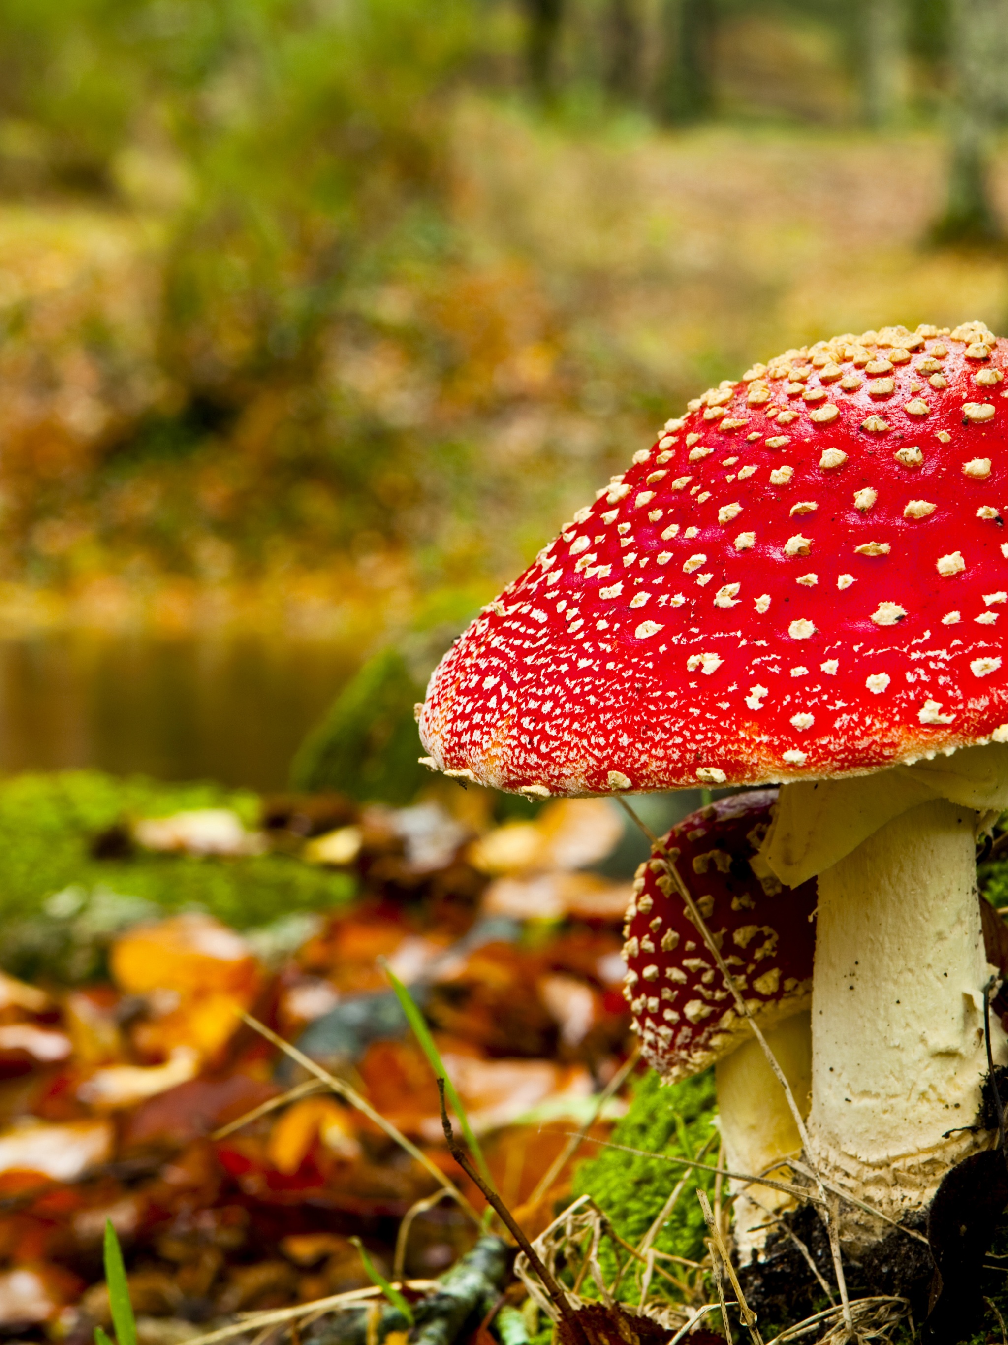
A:
[[[808,1010],[792,1014],[778,1026],[765,1030],[763,1036],[802,1116],[806,1116],[812,1087],[812,1020]],[[771,1165],[800,1154],[801,1135],[763,1048],[755,1038],[745,1041],[718,1061],[715,1077],[728,1169],[786,1180],[788,1174],[773,1171]],[[730,1189],[735,1196],[735,1252],[739,1264],[745,1266],[754,1252],[762,1250],[773,1231],[769,1216],[792,1209],[794,1197],[738,1178],[731,1180]]]

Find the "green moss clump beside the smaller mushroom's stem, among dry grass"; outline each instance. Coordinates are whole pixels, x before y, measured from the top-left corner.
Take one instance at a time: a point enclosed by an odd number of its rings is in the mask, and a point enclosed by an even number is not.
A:
[[[664,1088],[659,1076],[648,1071],[634,1087],[626,1116],[613,1132],[613,1141],[649,1153],[696,1158],[711,1138],[716,1114],[714,1072]],[[716,1141],[706,1162],[718,1157]],[[603,1149],[597,1158],[582,1163],[574,1180],[577,1196],[589,1194],[606,1212],[617,1233],[637,1244],[660,1212],[675,1184],[687,1169],[660,1158],[644,1158],[618,1149]],[[659,1233],[659,1251],[700,1260],[704,1254],[704,1221],[696,1189],[714,1189],[711,1173],[695,1171],[676,1202],[672,1216]],[[606,1279],[612,1279],[616,1260],[612,1248],[602,1247]],[[633,1280],[621,1284],[621,1293],[636,1297]]]

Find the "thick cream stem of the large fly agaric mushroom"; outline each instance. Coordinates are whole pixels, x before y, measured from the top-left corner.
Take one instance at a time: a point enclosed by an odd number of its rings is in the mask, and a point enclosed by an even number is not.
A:
[[[986,1068],[974,824],[970,808],[923,803],[818,876],[810,1158],[891,1219],[988,1145],[964,1128]],[[855,1252],[884,1231],[844,1210]]]

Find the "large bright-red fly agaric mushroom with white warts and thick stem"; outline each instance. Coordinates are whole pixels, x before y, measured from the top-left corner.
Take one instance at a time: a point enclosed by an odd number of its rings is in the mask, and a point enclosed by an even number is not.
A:
[[[784,781],[762,854],[818,876],[809,1158],[890,1219],[991,1142],[1005,364],[981,323],[890,327],[704,393],[482,611],[419,721],[434,769],[542,798]],[[852,1250],[886,1227],[843,1217]]]

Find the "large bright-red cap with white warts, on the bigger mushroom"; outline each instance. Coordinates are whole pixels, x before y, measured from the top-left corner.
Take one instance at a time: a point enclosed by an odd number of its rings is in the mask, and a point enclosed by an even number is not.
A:
[[[429,764],[544,796],[1008,741],[1005,364],[895,327],[704,393],[445,656]]]

